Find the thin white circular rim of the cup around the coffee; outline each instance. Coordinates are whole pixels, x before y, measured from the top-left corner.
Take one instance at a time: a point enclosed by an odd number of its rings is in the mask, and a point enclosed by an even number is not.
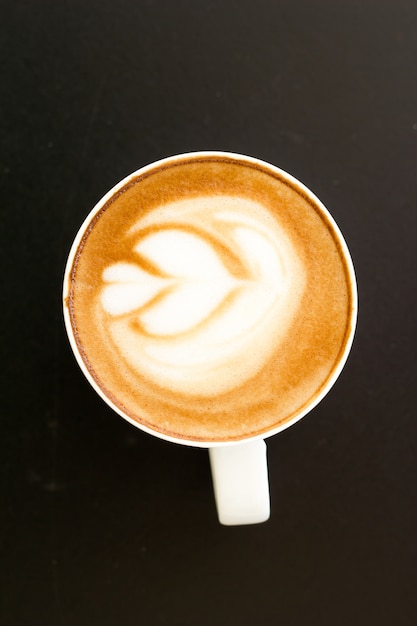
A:
[[[262,169],[270,170],[274,172],[275,174],[279,175],[281,178],[287,181],[292,187],[295,187],[297,191],[300,191],[302,195],[306,196],[310,200],[310,202],[312,202],[324,214],[326,221],[331,226],[334,232],[334,235],[337,238],[338,244],[340,245],[342,253],[343,253],[344,261],[346,264],[346,269],[349,275],[349,285],[350,285],[350,290],[351,290],[351,293],[350,293],[351,315],[350,315],[349,333],[345,340],[343,352],[339,356],[336,366],[333,368],[331,375],[328,377],[325,385],[323,385],[320,392],[311,400],[311,402],[309,402],[305,407],[303,407],[303,409],[300,410],[296,415],[286,420],[285,422],[279,424],[278,426],[272,429],[266,430],[265,432],[262,432],[262,433],[257,433],[255,435],[251,435],[248,437],[242,437],[240,439],[233,439],[231,441],[224,441],[224,440],[221,440],[221,441],[198,440],[197,441],[193,439],[187,439],[186,437],[174,437],[172,435],[162,433],[158,430],[153,430],[149,428],[148,426],[142,424],[141,422],[134,420],[132,417],[130,417],[126,413],[124,413],[123,410],[120,409],[120,407],[118,407],[116,404],[114,404],[110,400],[110,398],[108,398],[108,396],[104,393],[104,391],[96,383],[96,381],[90,374],[81,356],[78,345],[75,341],[74,329],[71,323],[71,318],[69,314],[69,306],[68,306],[68,295],[70,291],[69,285],[71,282],[70,274],[72,271],[73,262],[74,262],[74,258],[77,253],[78,247],[92,219],[103,208],[103,206],[114,196],[114,194],[117,193],[120,189],[124,188],[132,179],[138,176],[143,176],[144,174],[151,172],[154,169],[161,168],[161,166],[168,165],[168,164],[171,166],[176,161],[184,161],[187,159],[195,160],[198,158],[208,159],[210,157],[213,157],[213,158],[219,157],[219,158],[225,158],[225,159],[230,159],[230,160],[235,160],[235,161],[239,160],[239,161],[250,163],[252,165],[258,165]],[[327,393],[330,391],[330,389],[333,387],[333,385],[339,378],[346,364],[351,348],[352,348],[352,343],[353,343],[355,330],[356,330],[356,324],[357,324],[357,315],[358,315],[358,289],[357,289],[357,281],[356,281],[356,275],[355,275],[355,269],[354,269],[352,257],[349,252],[347,243],[341,233],[341,230],[338,227],[335,219],[330,214],[329,210],[326,208],[326,206],[308,187],[306,187],[306,185],[304,185],[301,181],[295,178],[292,174],[289,174],[285,170],[271,163],[268,163],[267,161],[259,159],[257,157],[252,157],[252,156],[248,156],[248,155],[244,155],[244,154],[240,154],[236,152],[221,151],[221,150],[203,150],[203,151],[184,152],[181,154],[175,154],[172,156],[164,157],[162,159],[158,159],[157,161],[154,161],[143,167],[140,167],[138,170],[132,172],[128,176],[125,176],[120,182],[114,185],[103,197],[99,199],[99,201],[94,205],[94,207],[87,214],[86,218],[83,220],[74,238],[74,241],[71,245],[71,248],[67,257],[66,265],[65,265],[65,271],[64,271],[62,303],[63,303],[63,315],[64,315],[65,328],[66,328],[68,340],[71,345],[74,356],[76,358],[76,361],[81,371],[83,372],[84,376],[87,378],[88,382],[90,383],[90,385],[93,387],[96,393],[101,397],[102,400],[104,400],[104,402],[110,408],[112,408],[118,415],[123,417],[127,422],[129,422],[136,428],[139,428],[140,430],[150,435],[153,435],[155,437],[159,437],[160,439],[163,439],[165,441],[192,446],[192,447],[198,447],[198,448],[212,448],[212,447],[219,447],[219,446],[226,446],[226,445],[227,446],[239,445],[239,444],[247,443],[250,441],[256,441],[259,439],[266,439],[266,438],[272,437],[273,435],[276,435],[279,432],[286,430],[290,426],[293,426],[295,423],[300,421],[303,417],[305,417],[308,413],[310,413],[310,411],[312,411],[323,400],[323,398],[327,395]]]

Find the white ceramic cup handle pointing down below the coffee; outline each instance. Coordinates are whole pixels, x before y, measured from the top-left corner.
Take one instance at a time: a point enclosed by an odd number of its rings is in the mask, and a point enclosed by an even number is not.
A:
[[[220,523],[266,522],[270,504],[265,441],[212,447],[209,457]]]

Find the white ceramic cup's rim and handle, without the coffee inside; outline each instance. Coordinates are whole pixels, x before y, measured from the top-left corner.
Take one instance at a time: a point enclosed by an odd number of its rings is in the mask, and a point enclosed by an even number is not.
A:
[[[344,344],[342,353],[339,354],[337,362],[332,370],[331,376],[327,379],[326,384],[321,388],[319,393],[314,396],[314,399],[296,415],[293,415],[291,419],[285,421],[280,426],[267,431],[262,432],[261,435],[254,437],[248,437],[239,441],[233,441],[225,444],[224,441],[194,441],[187,439],[179,439],[171,437],[165,433],[152,430],[149,427],[138,423],[132,419],[129,415],[124,413],[120,407],[116,406],[112,400],[107,397],[101,387],[96,383],[95,379],[91,375],[86,363],[80,354],[80,349],[74,337],[74,329],[71,324],[70,313],[68,308],[68,294],[71,280],[71,270],[74,263],[74,258],[79,248],[80,242],[87,229],[90,227],[92,220],[100,212],[100,210],[106,205],[106,203],[116,194],[120,189],[124,188],[129,181],[133,178],[141,176],[143,174],[151,173],[153,169],[160,168],[161,165],[170,165],[176,160],[184,158],[198,159],[200,157],[207,156],[227,156],[230,159],[238,159],[240,161],[246,161],[248,164],[258,165],[261,168],[267,169],[274,174],[278,174],[281,179],[286,180],[293,188],[301,191],[301,193],[308,197],[314,206],[326,216],[327,223],[331,225],[333,237],[337,239],[339,250],[344,255],[346,267],[348,268],[349,281],[351,285],[351,321],[350,332],[347,341]],[[128,422],[134,426],[144,430],[145,432],[160,437],[164,440],[172,441],[188,446],[198,446],[201,448],[208,448],[210,465],[213,478],[214,494],[217,505],[217,512],[219,521],[225,525],[239,525],[239,524],[254,524],[264,522],[270,515],[270,498],[269,498],[269,482],[268,482],[268,469],[267,469],[267,457],[266,457],[266,445],[264,439],[275,435],[281,430],[288,428],[296,421],[305,416],[311,409],[313,409],[327,394],[330,388],[335,383],[339,374],[341,373],[343,366],[348,357],[353,335],[356,325],[357,316],[357,290],[355,274],[351,257],[343,239],[340,230],[336,223],[328,213],[327,209],[318,200],[318,198],[312,194],[302,183],[297,181],[294,177],[286,172],[274,167],[268,163],[255,159],[253,157],[237,155],[224,152],[196,152],[183,155],[177,155],[163,159],[156,163],[152,163],[144,168],[141,168],[137,172],[127,176],[118,185],[113,187],[93,208],[86,220],[82,224],[75,240],[72,245],[64,277],[64,289],[63,289],[63,308],[66,330],[68,333],[69,341],[72,350],[75,354],[77,362],[83,371],[84,375],[95,389],[95,391],[101,396],[101,398],[113,408],[119,415],[125,418]]]

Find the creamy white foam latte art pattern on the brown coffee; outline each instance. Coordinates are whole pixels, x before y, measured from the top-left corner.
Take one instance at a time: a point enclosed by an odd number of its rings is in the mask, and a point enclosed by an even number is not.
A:
[[[193,395],[217,395],[256,374],[304,285],[291,242],[265,209],[233,196],[187,199],[157,207],[132,233],[133,262],[106,267],[100,293],[120,358]]]

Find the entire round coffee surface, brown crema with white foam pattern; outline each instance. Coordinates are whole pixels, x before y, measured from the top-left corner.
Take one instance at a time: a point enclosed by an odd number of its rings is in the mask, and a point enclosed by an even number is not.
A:
[[[132,175],[85,225],[67,276],[89,377],[174,439],[278,429],[329,385],[351,336],[353,277],[331,218],[291,177],[237,155]]]

